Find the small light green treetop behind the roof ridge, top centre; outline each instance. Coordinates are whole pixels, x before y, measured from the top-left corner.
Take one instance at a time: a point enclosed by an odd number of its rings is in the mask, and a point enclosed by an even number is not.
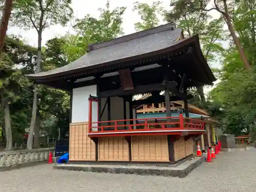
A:
[[[136,31],[143,31],[159,25],[159,15],[163,15],[163,7],[160,6],[161,2],[153,2],[152,5],[146,3],[134,3],[133,11],[137,11],[140,15],[142,22],[134,24]]]

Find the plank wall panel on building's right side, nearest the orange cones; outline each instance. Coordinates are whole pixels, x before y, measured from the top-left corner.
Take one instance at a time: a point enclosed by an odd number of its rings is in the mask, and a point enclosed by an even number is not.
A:
[[[174,160],[178,161],[183,159],[194,152],[194,140],[190,137],[188,140],[184,140],[181,137],[179,140],[174,142]]]

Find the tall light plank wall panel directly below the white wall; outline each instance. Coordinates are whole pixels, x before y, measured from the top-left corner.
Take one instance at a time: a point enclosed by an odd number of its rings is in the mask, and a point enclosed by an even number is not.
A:
[[[87,136],[88,122],[70,124],[70,161],[95,161],[96,146],[94,141]]]

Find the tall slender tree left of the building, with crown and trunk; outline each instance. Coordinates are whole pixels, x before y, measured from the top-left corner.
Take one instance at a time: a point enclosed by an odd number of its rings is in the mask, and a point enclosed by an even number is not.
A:
[[[15,4],[12,17],[13,23],[23,29],[34,28],[38,35],[36,73],[40,72],[41,67],[42,31],[51,25],[66,25],[73,14],[73,10],[70,5],[71,0],[27,0],[22,3]],[[27,148],[29,150],[31,150],[33,146],[36,114],[37,86],[35,85],[30,132],[27,143]]]

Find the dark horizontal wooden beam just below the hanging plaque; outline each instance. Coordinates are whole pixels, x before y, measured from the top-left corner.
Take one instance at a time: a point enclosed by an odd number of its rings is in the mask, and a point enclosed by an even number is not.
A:
[[[123,91],[123,89],[104,91],[100,93],[100,97],[114,97],[114,96],[124,96],[124,95],[135,95],[140,93],[149,93],[151,91],[162,91],[165,88],[170,89],[174,92],[178,92],[176,89],[177,83],[175,81],[170,81],[168,83],[155,83],[147,84],[145,86],[137,86],[134,90]],[[176,90],[176,91],[175,91]],[[183,95],[180,94],[183,98]]]

